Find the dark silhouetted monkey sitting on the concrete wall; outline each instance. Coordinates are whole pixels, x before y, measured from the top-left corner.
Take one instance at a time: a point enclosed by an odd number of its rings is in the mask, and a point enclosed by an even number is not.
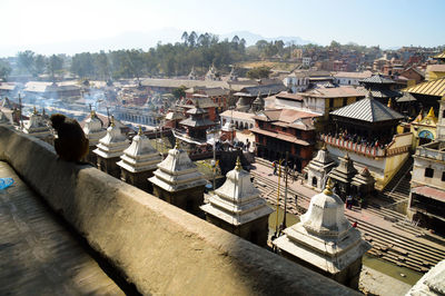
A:
[[[89,140],[79,122],[61,114],[51,115],[50,120],[58,135],[55,139],[55,149],[59,158],[80,162],[88,154]]]

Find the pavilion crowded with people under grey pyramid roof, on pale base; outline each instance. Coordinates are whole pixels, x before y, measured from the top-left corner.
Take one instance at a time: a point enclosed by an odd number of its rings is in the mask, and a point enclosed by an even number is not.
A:
[[[375,100],[365,99],[330,112],[333,125],[320,140],[335,161],[346,152],[358,171],[367,167],[382,190],[409,157],[413,134],[397,134],[403,116]]]

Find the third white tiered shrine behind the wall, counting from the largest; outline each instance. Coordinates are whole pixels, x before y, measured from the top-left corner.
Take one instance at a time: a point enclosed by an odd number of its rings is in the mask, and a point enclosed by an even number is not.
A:
[[[149,178],[154,195],[189,213],[199,214],[206,180],[187,152],[179,148],[178,139],[175,148],[157,167],[154,177]]]

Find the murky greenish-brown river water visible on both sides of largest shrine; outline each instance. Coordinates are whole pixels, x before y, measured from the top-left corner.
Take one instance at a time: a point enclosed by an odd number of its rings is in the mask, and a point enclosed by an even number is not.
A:
[[[277,214],[276,214],[276,207],[273,205],[269,205],[274,209],[274,213],[270,214],[269,216],[269,234],[273,235],[275,233],[275,226],[276,226],[276,220],[277,220]],[[284,210],[281,208],[278,208],[278,225],[283,223],[283,214]],[[287,214],[286,215],[286,227],[293,226],[294,224],[299,221],[299,217],[293,214]],[[382,260],[379,258],[376,258],[374,256],[368,256],[365,255],[363,257],[363,265],[373,268],[377,272],[380,272],[382,274],[385,274],[387,276],[390,276],[397,280],[400,280],[403,283],[414,285],[423,274],[416,273],[412,269],[408,269],[406,267],[399,267],[393,263]]]

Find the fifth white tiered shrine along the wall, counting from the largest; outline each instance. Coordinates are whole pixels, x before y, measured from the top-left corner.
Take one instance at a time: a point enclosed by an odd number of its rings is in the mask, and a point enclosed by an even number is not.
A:
[[[127,137],[115,125],[115,119],[111,118],[111,125],[107,128],[107,135],[99,139],[97,149],[93,150],[97,155],[97,168],[115,178],[120,178],[120,167],[117,165],[117,161],[120,160],[120,156],[127,147]]]

